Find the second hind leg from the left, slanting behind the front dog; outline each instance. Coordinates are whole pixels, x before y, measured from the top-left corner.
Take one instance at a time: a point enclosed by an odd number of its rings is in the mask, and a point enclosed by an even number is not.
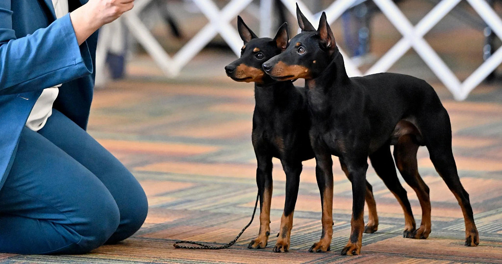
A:
[[[369,155],[369,160],[376,174],[384,181],[384,184],[389,188],[392,194],[396,196],[396,199],[403,208],[405,216],[403,236],[409,236],[411,232],[415,231],[416,223],[406,190],[399,182],[398,174],[396,173],[396,167],[391,154],[391,146],[388,144],[382,146]]]

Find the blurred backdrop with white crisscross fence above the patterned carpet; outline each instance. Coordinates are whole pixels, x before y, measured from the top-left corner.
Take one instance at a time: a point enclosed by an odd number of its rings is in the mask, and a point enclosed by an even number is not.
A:
[[[230,81],[222,67],[240,51],[236,16],[260,37],[273,37],[288,22],[293,37],[298,33],[295,3],[137,0],[129,16],[101,31],[98,86],[110,77],[126,76]],[[349,75],[411,74],[440,82],[457,100],[464,100],[477,85],[497,80],[502,54],[491,55],[500,46],[496,33],[502,35],[499,1],[312,0],[299,4],[314,26],[321,12],[327,11]]]

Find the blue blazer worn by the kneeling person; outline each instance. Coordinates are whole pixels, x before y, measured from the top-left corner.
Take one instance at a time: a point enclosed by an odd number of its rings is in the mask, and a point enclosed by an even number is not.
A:
[[[68,0],[70,12],[88,0]],[[54,108],[83,129],[94,86],[97,32],[78,46],[69,14],[52,0],[0,0],[0,188],[42,90],[63,84]]]

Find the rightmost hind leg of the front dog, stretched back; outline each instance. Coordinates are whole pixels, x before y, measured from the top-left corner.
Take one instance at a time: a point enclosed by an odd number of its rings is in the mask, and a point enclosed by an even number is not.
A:
[[[453,192],[458,204],[462,208],[465,222],[465,245],[476,246],[479,244],[479,234],[474,223],[469,194],[462,186],[458,177],[457,166],[453,158],[451,148],[451,124],[448,113],[443,108],[436,115],[428,116],[427,120],[433,120],[421,124],[429,155],[436,171],[443,178],[448,188]]]

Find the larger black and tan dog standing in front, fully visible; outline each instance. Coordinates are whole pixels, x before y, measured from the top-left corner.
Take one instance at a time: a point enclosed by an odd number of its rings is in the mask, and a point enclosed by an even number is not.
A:
[[[316,158],[316,176],[323,196],[323,232],[315,251],[329,250],[332,236],[330,202],[333,195],[331,155],[338,156],[352,178],[351,233],[341,254],[359,254],[364,228],[363,206],[367,158],[375,171],[396,174],[390,146],[401,175],[416,191],[422,206],[422,224],[415,230],[406,193],[396,194],[405,209],[405,236],[427,238],[431,231],[429,188],[417,169],[417,150],[427,146],[439,175],[453,192],[465,220],[465,245],[475,246],[479,236],[469,195],[457,174],[451,148],[448,113],[434,89],[412,76],[381,73],[349,78],[333,33],[323,13],[316,30],[297,6],[302,33],[286,51],[263,64],[277,81],[304,78],[312,122],[310,142]]]

